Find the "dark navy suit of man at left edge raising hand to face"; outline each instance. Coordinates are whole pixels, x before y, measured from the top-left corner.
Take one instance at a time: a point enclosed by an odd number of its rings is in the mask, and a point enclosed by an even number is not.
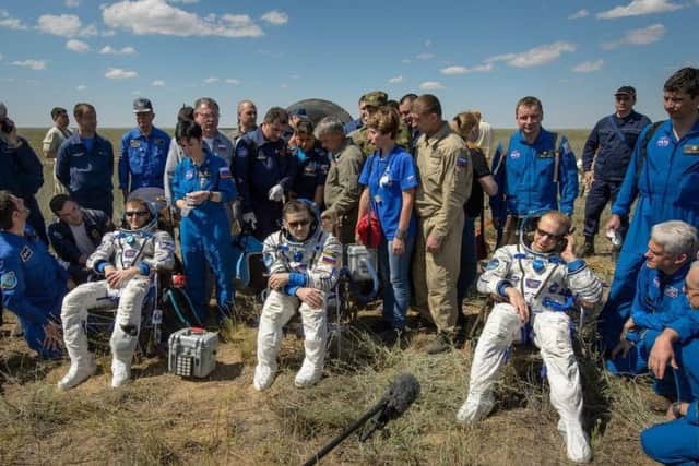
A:
[[[35,198],[44,184],[44,166],[27,140],[17,140],[20,145],[11,148],[4,138],[0,136],[0,190],[8,190],[22,198],[24,205],[29,210],[27,224],[34,228],[39,239],[48,244],[42,208]]]

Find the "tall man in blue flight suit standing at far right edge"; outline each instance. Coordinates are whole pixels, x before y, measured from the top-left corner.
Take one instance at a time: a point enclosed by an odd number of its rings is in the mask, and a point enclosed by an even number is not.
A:
[[[670,219],[699,225],[699,69],[684,68],[665,81],[664,106],[670,120],[650,126],[639,135],[606,225],[618,230],[621,216],[630,213],[638,196],[600,315],[599,328],[607,349],[616,346],[629,316],[651,227]],[[648,144],[643,144],[653,130]]]

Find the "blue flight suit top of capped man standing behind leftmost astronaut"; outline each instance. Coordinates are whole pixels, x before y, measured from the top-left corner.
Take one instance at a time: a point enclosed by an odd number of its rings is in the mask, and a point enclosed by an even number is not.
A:
[[[145,136],[134,128],[121,138],[119,189],[132,192],[139,188],[163,188],[163,174],[170,136],[153,127]]]

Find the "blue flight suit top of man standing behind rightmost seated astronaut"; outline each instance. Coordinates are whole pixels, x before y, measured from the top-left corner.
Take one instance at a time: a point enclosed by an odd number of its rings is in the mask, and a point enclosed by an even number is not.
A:
[[[528,144],[522,132],[516,132],[510,138],[506,158],[499,169],[497,165],[502,148],[498,146],[493,157],[493,174],[500,192],[490,198],[494,216],[502,217],[506,213],[524,216],[537,211],[558,210],[559,195],[560,211],[572,214],[578,196],[576,155],[566,136],[558,136],[557,147],[554,147],[555,139],[555,133],[542,128],[534,144]],[[557,152],[559,162],[556,174]],[[554,181],[555,176],[557,182]]]

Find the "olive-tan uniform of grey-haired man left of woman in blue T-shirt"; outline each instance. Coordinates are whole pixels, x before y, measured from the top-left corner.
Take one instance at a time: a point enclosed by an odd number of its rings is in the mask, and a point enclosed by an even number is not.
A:
[[[350,140],[332,153],[332,163],[325,179],[325,205],[328,214],[336,216],[340,225],[339,239],[343,244],[354,242],[354,227],[357,224],[359,205],[359,175],[364,165],[362,151]]]

